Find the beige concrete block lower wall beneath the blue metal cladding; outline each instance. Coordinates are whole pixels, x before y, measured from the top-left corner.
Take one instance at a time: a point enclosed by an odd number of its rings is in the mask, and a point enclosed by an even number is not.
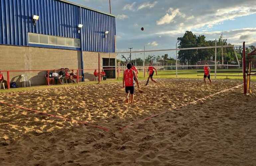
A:
[[[102,57],[109,57],[103,54]],[[111,57],[116,56],[111,54]],[[98,68],[98,53],[83,52],[84,68]],[[102,64],[102,58],[101,58]],[[101,65],[102,66],[102,65]],[[24,46],[8,46],[0,45],[0,69],[1,70],[47,70],[47,69],[81,69],[80,51],[24,47]],[[93,71],[85,71],[85,81],[93,80]],[[7,79],[6,72],[3,72]],[[10,82],[16,82],[22,86],[21,75],[28,74],[32,85],[45,85],[46,79],[44,75],[46,71],[28,71],[28,72],[10,72]]]

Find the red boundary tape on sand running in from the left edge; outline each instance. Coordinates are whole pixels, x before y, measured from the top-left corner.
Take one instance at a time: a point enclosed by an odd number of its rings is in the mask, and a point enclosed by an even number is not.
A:
[[[14,106],[12,104],[8,104],[8,103],[5,103],[5,102],[0,102],[0,103],[4,104],[4,105],[7,105],[9,107],[16,107],[16,108],[20,108],[20,109],[27,110],[27,111],[32,111],[32,112],[37,113],[37,114],[47,115],[48,117],[55,117],[55,118],[63,119],[63,120],[66,120],[66,121],[75,122],[75,123],[78,123],[78,124],[85,124],[85,125],[88,125],[88,126],[96,127],[96,128],[102,129],[104,131],[109,131],[109,129],[106,128],[106,127],[101,127],[101,126],[89,124],[87,122],[79,122],[79,121],[76,121],[76,120],[73,120],[73,119],[64,118],[62,116],[56,116],[56,115],[52,115],[52,114],[42,113],[38,110],[33,110],[33,109],[30,109],[30,108],[25,108],[25,107],[21,107],[21,106]]]

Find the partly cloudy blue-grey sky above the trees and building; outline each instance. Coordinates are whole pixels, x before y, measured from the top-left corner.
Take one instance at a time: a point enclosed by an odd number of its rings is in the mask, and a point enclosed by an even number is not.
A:
[[[109,13],[109,0],[69,1]],[[111,10],[117,51],[175,48],[186,31],[256,45],[256,0],[111,0]]]

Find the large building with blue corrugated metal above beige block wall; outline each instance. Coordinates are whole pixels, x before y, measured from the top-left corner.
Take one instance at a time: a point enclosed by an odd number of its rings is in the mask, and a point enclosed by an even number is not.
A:
[[[115,16],[82,5],[0,0],[1,70],[90,69],[84,80],[93,80],[98,53],[101,66],[116,66],[115,35]],[[10,72],[11,82],[21,85],[21,74],[28,74],[32,85],[45,84],[46,71]],[[109,77],[115,74],[107,71]]]

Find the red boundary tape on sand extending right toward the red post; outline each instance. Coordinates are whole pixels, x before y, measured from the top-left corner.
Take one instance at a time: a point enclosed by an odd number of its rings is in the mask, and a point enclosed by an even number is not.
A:
[[[193,102],[187,103],[187,104],[185,104],[185,105],[183,105],[183,106],[177,107],[177,108],[175,108],[175,109],[173,109],[173,110],[171,110],[171,111],[177,110],[177,109],[179,109],[179,108],[182,108],[182,107],[188,106],[188,105],[193,104],[193,103],[197,103],[198,101],[201,101],[201,100],[207,99],[207,98],[209,98],[209,97],[212,97],[212,96],[214,96],[214,95],[217,95],[217,94],[220,94],[220,93],[223,93],[223,92],[229,91],[229,90],[231,90],[231,89],[238,88],[238,87],[240,87],[240,86],[242,86],[242,85],[243,85],[243,84],[238,85],[238,86],[235,86],[235,87],[233,87],[233,88],[229,88],[229,89],[226,89],[226,90],[220,91],[220,92],[217,92],[217,93],[214,93],[214,94],[212,94],[212,95],[210,95],[210,96],[207,96],[207,97],[204,97],[204,98],[198,99],[198,100],[196,100],[196,101],[193,101]],[[139,121],[137,121],[137,122],[135,122],[135,123],[132,123],[132,124],[126,125],[126,126],[124,126],[124,127],[120,128],[120,130],[121,130],[121,132],[122,132],[124,129],[126,129],[126,128],[130,127],[130,126],[133,126],[133,125],[135,125],[135,124],[139,124],[139,123],[141,123],[141,122],[143,122],[143,121],[147,121],[147,120],[149,120],[149,119],[152,119],[152,118],[157,117],[157,116],[159,116],[159,115],[165,114],[165,113],[167,113],[167,112],[170,112],[170,111],[165,111],[165,112],[162,112],[162,113],[160,113],[160,114],[155,114],[155,115],[152,115],[152,116],[150,116],[150,117],[144,118],[144,119],[139,120]]]

